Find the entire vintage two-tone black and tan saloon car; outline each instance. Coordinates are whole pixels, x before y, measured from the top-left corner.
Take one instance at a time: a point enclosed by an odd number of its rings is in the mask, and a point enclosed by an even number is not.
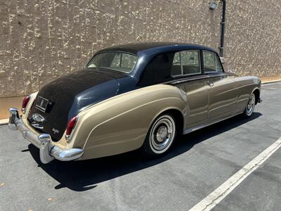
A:
[[[141,148],[163,155],[177,134],[234,115],[250,117],[261,81],[225,72],[213,49],[141,43],[98,51],[82,71],[24,98],[9,128],[39,148],[43,163],[85,160]]]

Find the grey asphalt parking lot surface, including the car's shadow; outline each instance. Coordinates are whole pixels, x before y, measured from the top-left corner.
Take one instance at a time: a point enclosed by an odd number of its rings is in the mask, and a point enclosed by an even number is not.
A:
[[[182,136],[164,158],[138,151],[43,165],[0,126],[0,210],[189,210],[281,136],[281,82],[264,84],[253,116]],[[214,210],[281,210],[281,148]]]

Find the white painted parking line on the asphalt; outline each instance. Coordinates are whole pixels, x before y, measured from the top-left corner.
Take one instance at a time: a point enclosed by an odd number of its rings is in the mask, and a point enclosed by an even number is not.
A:
[[[253,160],[244,165],[241,170],[225,181],[221,186],[216,188],[215,191],[209,194],[206,198],[197,203],[190,210],[211,210],[214,208],[223,198],[228,196],[228,194],[233,191],[233,189],[238,186],[244,179],[246,179],[249,174],[254,172],[259,166],[265,162],[270,155],[272,155],[281,146],[281,137],[275,141],[273,144],[268,146],[265,151],[256,156]]]

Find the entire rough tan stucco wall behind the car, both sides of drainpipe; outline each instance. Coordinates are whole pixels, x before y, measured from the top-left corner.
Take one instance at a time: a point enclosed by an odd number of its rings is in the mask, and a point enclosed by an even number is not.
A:
[[[226,70],[281,75],[281,1],[228,1]],[[218,49],[221,6],[207,0],[0,0],[0,97],[80,70],[95,51],[135,41]]]

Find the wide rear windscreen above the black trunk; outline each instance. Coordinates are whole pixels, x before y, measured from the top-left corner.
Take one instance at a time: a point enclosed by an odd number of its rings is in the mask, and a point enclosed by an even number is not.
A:
[[[104,52],[94,56],[87,68],[107,68],[119,72],[129,73],[136,65],[137,57],[131,53],[125,52]]]

